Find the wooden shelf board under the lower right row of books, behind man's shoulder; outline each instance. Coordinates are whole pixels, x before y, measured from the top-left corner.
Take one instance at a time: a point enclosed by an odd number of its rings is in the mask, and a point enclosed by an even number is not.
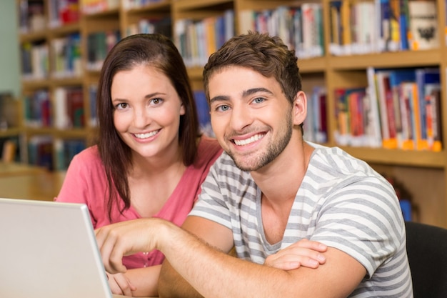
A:
[[[375,149],[366,147],[341,146],[353,157],[368,163],[390,164],[396,166],[444,168],[446,152],[411,151],[398,149]]]

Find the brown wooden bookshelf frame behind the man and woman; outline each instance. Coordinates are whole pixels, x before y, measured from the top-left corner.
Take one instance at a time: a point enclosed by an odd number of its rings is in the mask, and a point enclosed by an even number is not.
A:
[[[17,0],[19,4],[21,0]],[[51,0],[43,0],[45,6],[51,5]],[[82,1],[81,1],[82,2]],[[334,56],[330,54],[329,44],[331,42],[331,0],[161,0],[141,6],[129,6],[129,0],[121,0],[118,7],[106,9],[106,11],[94,14],[81,14],[79,22],[39,30],[26,32],[20,35],[20,43],[29,41],[46,41],[65,36],[79,31],[81,34],[81,55],[83,74],[79,77],[65,79],[24,79],[24,94],[36,89],[48,89],[50,94],[58,86],[79,85],[84,89],[84,108],[86,119],[91,117],[89,108],[89,86],[96,84],[99,76],[98,69],[91,70],[86,67],[87,59],[87,36],[95,31],[119,29],[121,36],[126,36],[126,31],[131,24],[136,24],[139,19],[154,16],[170,16],[173,27],[173,39],[176,40],[176,23],[191,19],[201,21],[209,17],[218,17],[224,11],[232,10],[234,17],[234,33],[241,34],[246,29],[242,16],[246,16],[247,10],[263,11],[276,9],[278,6],[301,6],[303,3],[321,4],[323,19],[323,55],[308,58],[299,58],[298,66],[303,78],[303,89],[311,90],[313,86],[324,86],[327,92],[326,115],[328,134],[325,144],[337,146],[333,132],[336,130],[335,98],[333,91],[338,88],[355,86],[366,86],[366,69],[374,68],[402,68],[402,67],[426,67],[435,66],[441,70],[441,119],[442,139],[444,149],[441,152],[417,152],[403,151],[399,149],[373,149],[367,147],[342,146],[354,157],[364,159],[370,163],[378,172],[393,175],[402,182],[413,195],[413,203],[418,208],[417,220],[447,227],[447,101],[446,101],[446,72],[447,72],[447,46],[444,28],[446,27],[445,1],[436,0],[438,16],[438,39],[436,49],[421,51],[383,51],[380,53],[354,54],[347,56]],[[51,57],[51,51],[49,53]],[[203,88],[201,83],[201,71],[203,65],[195,65],[189,68],[191,82],[195,89]],[[53,99],[54,100],[54,99]],[[76,138],[83,135],[91,135],[95,126],[86,121],[82,129],[25,129],[27,136],[35,134],[48,134],[59,139]]]

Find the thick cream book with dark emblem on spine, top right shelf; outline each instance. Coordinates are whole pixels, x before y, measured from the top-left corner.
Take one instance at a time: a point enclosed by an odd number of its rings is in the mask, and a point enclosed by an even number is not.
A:
[[[434,49],[439,46],[436,1],[408,1],[411,49]]]

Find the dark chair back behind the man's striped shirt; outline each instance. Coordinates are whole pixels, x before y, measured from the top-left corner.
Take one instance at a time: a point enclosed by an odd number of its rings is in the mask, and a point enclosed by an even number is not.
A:
[[[447,229],[406,222],[414,298],[447,297]]]

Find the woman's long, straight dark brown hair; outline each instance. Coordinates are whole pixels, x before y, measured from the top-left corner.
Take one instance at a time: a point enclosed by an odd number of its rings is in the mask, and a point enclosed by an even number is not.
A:
[[[114,126],[111,84],[117,72],[141,64],[162,71],[171,80],[185,107],[185,114],[180,116],[179,146],[186,166],[194,162],[197,152],[196,138],[200,132],[196,104],[184,61],[174,43],[161,34],[136,34],[121,39],[106,56],[96,97],[98,149],[109,186],[105,199],[110,220],[114,205],[119,208],[120,197],[124,202],[124,207],[119,210],[121,214],[131,206],[127,177],[132,167],[131,149],[121,140]]]

